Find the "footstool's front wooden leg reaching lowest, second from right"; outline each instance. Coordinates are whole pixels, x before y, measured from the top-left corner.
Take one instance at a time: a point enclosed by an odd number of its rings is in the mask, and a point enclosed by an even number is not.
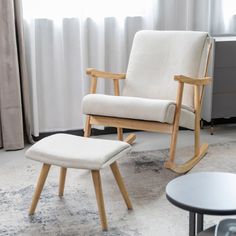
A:
[[[98,170],[92,170],[92,177],[93,177],[93,183],[97,198],[97,204],[98,204],[98,210],[100,215],[100,220],[102,224],[102,230],[107,230],[107,219],[106,219],[106,212],[104,207],[104,200],[103,200],[103,194],[102,194],[102,183],[101,183],[101,176],[100,172]]]

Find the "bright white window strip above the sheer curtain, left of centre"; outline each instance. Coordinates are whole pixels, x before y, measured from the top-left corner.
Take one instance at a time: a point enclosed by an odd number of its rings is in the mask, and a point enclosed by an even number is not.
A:
[[[23,0],[25,18],[142,16],[150,0]]]

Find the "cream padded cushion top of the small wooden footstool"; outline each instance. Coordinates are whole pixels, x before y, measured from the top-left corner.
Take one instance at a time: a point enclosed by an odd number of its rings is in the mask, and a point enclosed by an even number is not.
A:
[[[122,141],[55,134],[30,147],[27,158],[67,168],[99,170],[130,150]]]

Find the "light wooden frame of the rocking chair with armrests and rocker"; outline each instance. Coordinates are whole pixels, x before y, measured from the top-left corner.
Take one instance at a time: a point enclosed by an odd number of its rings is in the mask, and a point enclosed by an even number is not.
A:
[[[156,121],[143,121],[135,119],[108,117],[108,116],[97,116],[97,115],[87,115],[86,124],[84,128],[84,136],[89,137],[91,134],[91,125],[103,125],[117,127],[118,139],[123,140],[123,128],[161,132],[171,134],[171,144],[170,144],[170,156],[165,162],[165,167],[173,170],[177,173],[185,173],[192,169],[200,160],[204,157],[207,152],[208,144],[204,143],[200,145],[200,120],[201,120],[201,107],[203,100],[204,88],[206,85],[210,84],[212,79],[207,77],[207,69],[209,65],[210,51],[212,44],[209,44],[207,63],[205,66],[204,77],[203,78],[190,78],[184,75],[174,76],[174,80],[178,82],[178,92],[176,98],[176,109],[173,124],[160,123]],[[126,78],[126,74],[115,74],[110,72],[99,71],[93,68],[88,68],[86,71],[87,75],[91,78],[90,93],[96,93],[97,79],[111,79],[114,84],[114,95],[119,96],[119,80]],[[182,106],[182,97],[184,84],[190,84],[194,86],[194,113],[195,113],[195,129],[194,129],[194,156],[187,162],[177,165],[175,163],[175,152],[177,144],[177,136],[179,130],[179,120]],[[130,136],[131,139],[133,137]]]

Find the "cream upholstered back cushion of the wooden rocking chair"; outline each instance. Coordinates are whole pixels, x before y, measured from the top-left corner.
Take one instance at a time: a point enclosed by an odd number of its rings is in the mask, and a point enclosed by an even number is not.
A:
[[[174,75],[199,76],[206,39],[205,32],[139,31],[122,95],[175,100],[178,83]],[[183,104],[193,107],[193,95],[193,86],[185,85]]]

